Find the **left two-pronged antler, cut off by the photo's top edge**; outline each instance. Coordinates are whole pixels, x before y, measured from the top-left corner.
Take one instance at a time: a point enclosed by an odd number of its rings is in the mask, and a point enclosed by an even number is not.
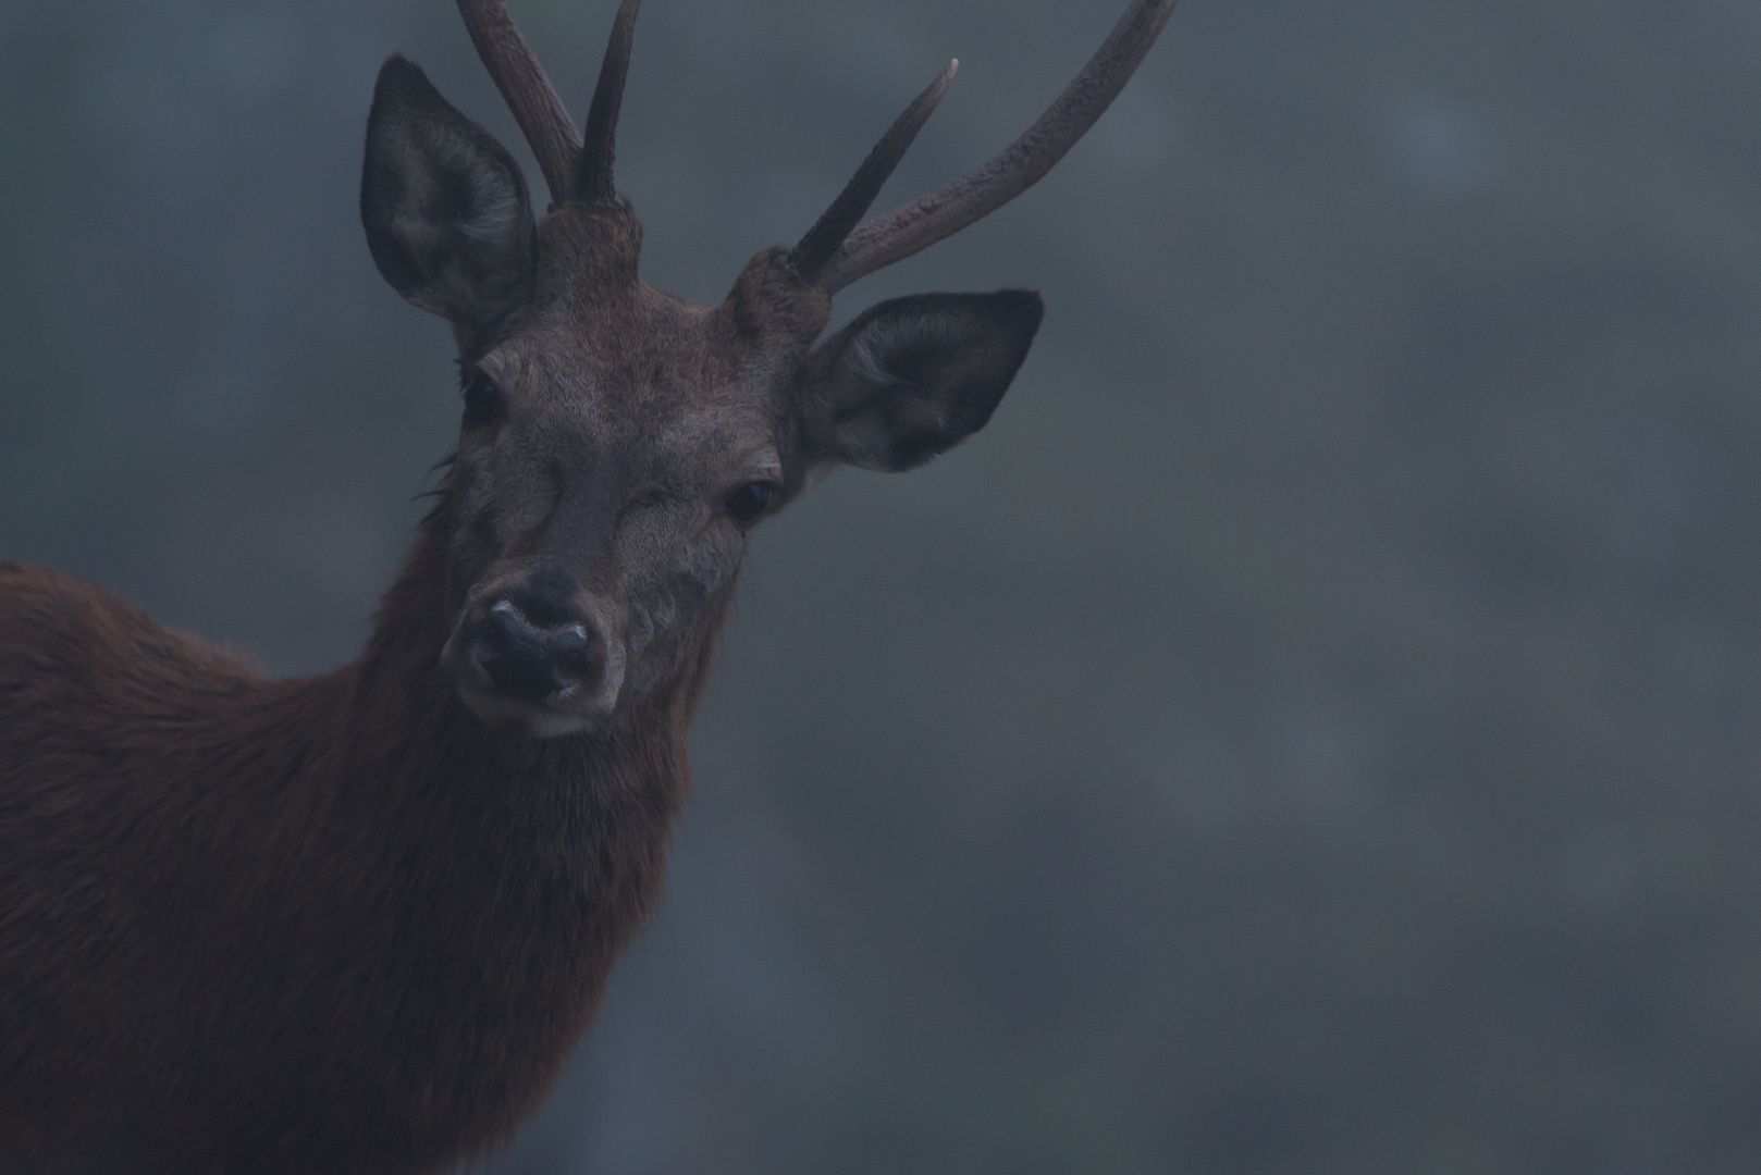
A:
[[[519,35],[514,19],[502,0],[458,0],[470,42],[495,79],[514,122],[532,144],[551,203],[569,201],[611,203],[616,188],[611,181],[611,153],[618,132],[618,107],[623,104],[623,79],[630,72],[630,42],[636,35],[636,11],[641,0],[623,0],[611,25],[611,44],[599,70],[593,106],[586,113],[586,143],[574,129],[569,109],[556,97],[555,86],[544,76],[532,46]]]

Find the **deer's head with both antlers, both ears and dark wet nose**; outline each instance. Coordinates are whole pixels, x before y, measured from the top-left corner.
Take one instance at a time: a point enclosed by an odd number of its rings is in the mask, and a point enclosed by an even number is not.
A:
[[[1011,148],[863,220],[949,65],[794,248],[761,252],[726,301],[697,307],[641,280],[641,224],[613,183],[639,4],[618,11],[583,137],[500,0],[460,0],[544,171],[542,220],[512,157],[402,56],[368,120],[373,261],[453,324],[460,352],[442,662],[479,717],[534,736],[611,724],[694,671],[747,536],[814,469],[903,470],[984,426],[1039,328],[1037,294],[900,298],[821,342],[831,296],[1050,171],[1173,11],[1134,0]]]

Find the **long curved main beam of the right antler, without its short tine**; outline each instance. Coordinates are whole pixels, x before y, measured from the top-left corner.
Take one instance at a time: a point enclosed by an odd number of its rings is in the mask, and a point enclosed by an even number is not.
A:
[[[1162,32],[1175,0],[1132,0],[1101,49],[1058,100],[993,160],[912,204],[856,225],[821,271],[836,292],[997,211],[1057,166],[1111,106]]]

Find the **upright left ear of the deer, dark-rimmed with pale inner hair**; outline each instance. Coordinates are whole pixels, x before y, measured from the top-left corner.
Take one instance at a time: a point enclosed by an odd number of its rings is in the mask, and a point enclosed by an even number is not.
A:
[[[532,291],[537,227],[519,166],[402,55],[373,88],[361,224],[393,289],[454,326],[491,326]]]

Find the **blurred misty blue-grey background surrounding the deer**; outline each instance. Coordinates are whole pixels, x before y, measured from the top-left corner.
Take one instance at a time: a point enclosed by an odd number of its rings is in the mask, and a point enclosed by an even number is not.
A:
[[[514,0],[581,118],[613,0]],[[652,0],[618,178],[713,301],[1124,0]],[[347,661],[451,446],[356,215],[446,0],[0,0],[0,557]],[[991,426],[768,521],[669,897],[477,1170],[1761,1170],[1761,5],[1185,0],[863,282],[1032,285]]]

